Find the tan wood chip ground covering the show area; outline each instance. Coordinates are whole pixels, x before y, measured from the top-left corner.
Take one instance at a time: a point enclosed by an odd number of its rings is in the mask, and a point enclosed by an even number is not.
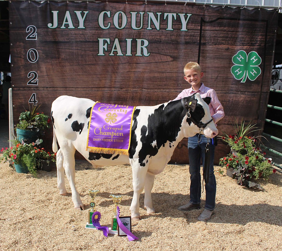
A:
[[[217,169],[217,166],[215,166]],[[101,225],[110,226],[113,201],[110,194],[123,195],[123,216],[130,215],[133,196],[131,167],[92,168],[76,163],[76,186],[86,210],[75,210],[69,182],[67,196],[57,189],[56,171],[39,171],[36,177],[16,173],[0,164],[0,250],[282,250],[282,175],[260,180],[263,191],[244,188],[226,175],[215,174],[216,208],[210,221],[200,222],[202,208],[181,212],[189,201],[189,166],[168,165],[155,178],[152,190],[156,214],[144,210],[140,195],[141,221],[132,222],[139,240],[85,229],[90,197],[88,189],[100,190],[96,197]]]

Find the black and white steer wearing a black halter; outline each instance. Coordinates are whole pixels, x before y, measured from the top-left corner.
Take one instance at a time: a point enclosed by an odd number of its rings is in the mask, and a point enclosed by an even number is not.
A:
[[[144,206],[147,213],[155,213],[151,198],[155,175],[164,170],[180,140],[194,136],[196,133],[213,138],[218,133],[208,107],[210,98],[204,100],[197,93],[182,101],[176,100],[155,106],[137,106],[133,114],[131,144],[127,156],[86,151],[90,112],[95,102],[72,96],[58,97],[52,103],[51,116],[54,125],[52,147],[54,152],[58,151],[57,172],[60,194],[66,195],[65,170],[72,191],[74,208],[84,210],[74,182],[74,153],[77,150],[87,161],[96,166],[130,164],[133,175],[131,218],[141,219],[139,196],[144,187]],[[59,150],[56,141],[60,146]]]

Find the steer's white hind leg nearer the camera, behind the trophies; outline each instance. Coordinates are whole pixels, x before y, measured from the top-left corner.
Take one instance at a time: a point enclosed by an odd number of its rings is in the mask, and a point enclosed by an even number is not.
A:
[[[74,179],[75,179],[75,172],[74,172],[74,166],[75,166],[75,160],[74,160],[74,153],[75,148],[73,149],[68,148],[65,150],[62,150],[64,155],[64,168],[67,175],[67,178],[70,183],[70,189],[72,192],[72,201],[74,204],[74,208],[78,210],[84,210],[84,205],[80,199],[80,195],[78,191],[76,190]]]

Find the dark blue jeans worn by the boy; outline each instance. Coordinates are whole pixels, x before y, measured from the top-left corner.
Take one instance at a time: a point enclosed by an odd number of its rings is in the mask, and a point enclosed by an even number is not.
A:
[[[203,166],[205,163],[206,145],[209,142],[210,151],[210,176],[209,182],[205,184],[206,190],[206,204],[205,208],[213,210],[215,208],[215,193],[216,193],[216,180],[213,172],[214,149],[215,146],[211,143],[209,138],[204,135],[196,134],[188,138],[188,153],[189,153],[189,172],[190,172],[190,203],[199,204],[201,202],[201,159]]]

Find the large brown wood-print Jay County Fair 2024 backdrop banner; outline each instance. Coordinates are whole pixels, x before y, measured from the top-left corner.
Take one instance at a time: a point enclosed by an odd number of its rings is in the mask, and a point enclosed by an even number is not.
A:
[[[183,67],[196,61],[224,107],[220,134],[233,133],[235,118],[263,128],[276,10],[12,1],[9,12],[14,124],[28,103],[49,113],[65,94],[130,106],[167,102],[189,88]],[[186,140],[178,147],[172,161],[187,162]],[[217,161],[227,148],[220,142],[216,151]]]

